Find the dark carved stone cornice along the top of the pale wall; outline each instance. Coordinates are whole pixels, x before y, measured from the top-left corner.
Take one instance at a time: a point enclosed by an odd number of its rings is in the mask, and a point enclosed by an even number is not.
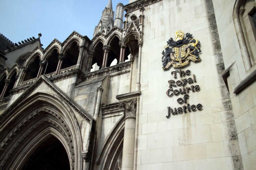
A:
[[[137,0],[133,3],[125,5],[124,10],[125,10],[125,12],[129,13],[129,12],[144,8],[148,5],[154,4],[159,1],[161,1],[161,0]]]

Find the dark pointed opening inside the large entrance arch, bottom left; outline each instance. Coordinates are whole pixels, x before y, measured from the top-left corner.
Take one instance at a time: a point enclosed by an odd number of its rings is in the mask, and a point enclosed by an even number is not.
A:
[[[70,170],[68,154],[62,143],[56,137],[51,136],[35,150],[23,169]]]

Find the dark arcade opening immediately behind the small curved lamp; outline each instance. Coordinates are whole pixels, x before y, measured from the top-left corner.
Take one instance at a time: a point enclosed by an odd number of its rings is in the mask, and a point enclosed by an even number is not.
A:
[[[48,61],[48,66],[47,66],[45,74],[52,73],[52,72],[56,71],[57,66],[58,66],[58,62],[59,62],[59,56],[58,55],[59,55],[59,53],[58,53],[57,49],[54,49],[52,51],[52,53],[50,54],[50,56],[48,56],[46,58],[46,60]],[[43,72],[45,70],[45,67],[46,67],[46,65],[43,68]]]

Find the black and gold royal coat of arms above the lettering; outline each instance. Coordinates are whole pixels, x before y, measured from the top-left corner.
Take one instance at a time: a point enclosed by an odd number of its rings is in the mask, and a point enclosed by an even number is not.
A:
[[[165,46],[165,51],[163,50],[162,52],[162,69],[168,69],[170,66],[182,67],[187,65],[189,60],[200,61],[200,42],[197,39],[193,39],[190,33],[186,33],[184,38],[184,32],[182,31],[175,31],[175,36],[176,41],[170,38]],[[187,43],[190,44],[187,45]],[[183,60],[185,61],[182,62]]]

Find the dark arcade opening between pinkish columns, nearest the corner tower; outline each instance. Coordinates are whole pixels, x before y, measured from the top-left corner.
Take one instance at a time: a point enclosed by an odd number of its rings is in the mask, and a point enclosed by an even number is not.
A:
[[[111,42],[109,43],[110,47],[111,47],[111,51],[109,52],[109,58],[108,58],[108,62],[107,62],[107,67],[109,67],[111,65],[111,63],[116,59],[117,62],[119,63],[119,59],[120,59],[120,46],[119,46],[119,38],[117,36],[115,36]],[[112,66],[112,65],[111,65]]]

